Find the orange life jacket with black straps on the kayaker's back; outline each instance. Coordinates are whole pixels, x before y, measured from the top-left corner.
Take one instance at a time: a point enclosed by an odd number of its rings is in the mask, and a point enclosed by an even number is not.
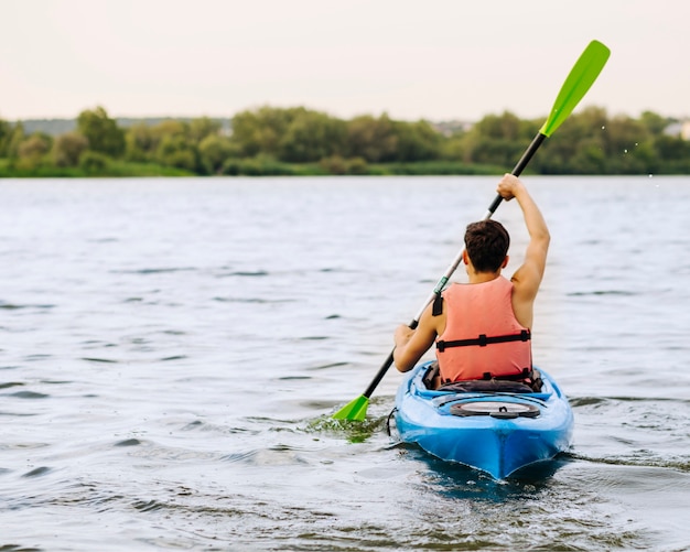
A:
[[[504,277],[443,292],[446,322],[436,338],[442,382],[529,378],[531,336],[515,317],[511,295],[513,283]]]

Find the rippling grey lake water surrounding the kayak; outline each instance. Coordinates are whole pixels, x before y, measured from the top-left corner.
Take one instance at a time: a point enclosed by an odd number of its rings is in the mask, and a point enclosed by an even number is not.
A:
[[[397,443],[395,369],[330,419],[496,180],[0,181],[0,551],[690,550],[688,177],[524,178],[575,413],[546,469]]]

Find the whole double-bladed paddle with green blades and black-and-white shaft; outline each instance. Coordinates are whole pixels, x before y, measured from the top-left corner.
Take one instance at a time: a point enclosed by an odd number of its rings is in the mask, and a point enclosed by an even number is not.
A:
[[[515,169],[513,169],[514,175],[520,175],[522,170],[532,159],[532,155],[541,145],[541,143],[548,137],[550,137],[565,119],[568,119],[568,116],[584,97],[590,87],[594,84],[594,80],[596,80],[596,77],[604,68],[604,65],[606,64],[610,54],[611,51],[599,41],[590,42],[587,47],[584,48],[584,52],[582,52],[582,55],[580,55],[580,58],[575,62],[575,65],[570,71],[568,78],[565,78],[563,86],[561,86],[561,90],[558,94],[556,101],[553,102],[553,107],[551,108],[551,113],[549,115],[549,118],[543,123],[541,129],[539,129],[539,132],[537,133],[532,142],[529,144],[518,163],[515,165]],[[503,197],[500,195],[496,195],[496,198],[490,204],[488,210],[484,215],[483,220],[487,220],[492,217],[496,208],[498,208],[498,206],[500,205],[502,201]],[[449,279],[451,278],[453,272],[455,272],[457,266],[461,263],[463,251],[464,248],[461,249],[457,257],[455,257],[443,277],[441,277],[436,286],[433,289],[433,292],[431,292],[431,294],[427,297],[424,304],[419,310],[414,318],[412,318],[412,322],[409,324],[410,328],[414,329],[417,327],[417,325],[419,324],[419,320],[424,312],[424,309],[427,309],[429,303],[431,303],[436,297],[436,295],[441,294]],[[366,418],[367,407],[369,405],[369,398],[388,371],[388,368],[391,367],[393,361],[392,354],[393,351],[391,350],[388,355],[388,358],[382,364],[378,374],[374,377],[371,383],[369,383],[369,387],[367,387],[364,394],[357,397],[354,401],[347,403],[335,414],[333,414],[334,419],[362,421]]]

